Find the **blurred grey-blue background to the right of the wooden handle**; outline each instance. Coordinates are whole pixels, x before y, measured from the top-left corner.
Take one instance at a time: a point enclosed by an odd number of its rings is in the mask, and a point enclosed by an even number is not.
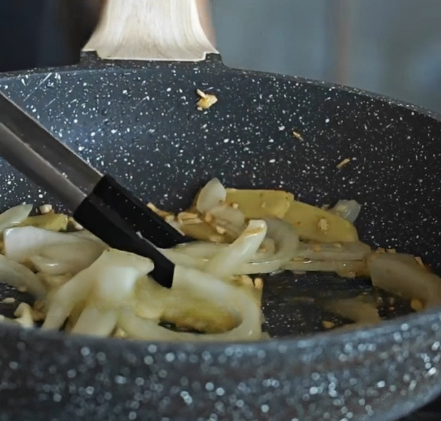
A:
[[[380,92],[441,112],[440,0],[213,0],[229,66]]]

